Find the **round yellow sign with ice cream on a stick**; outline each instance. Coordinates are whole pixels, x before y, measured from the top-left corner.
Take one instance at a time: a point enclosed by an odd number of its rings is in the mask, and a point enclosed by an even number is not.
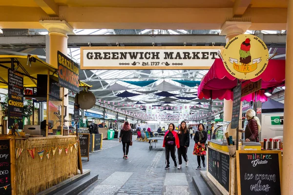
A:
[[[230,75],[249,80],[265,71],[269,51],[262,39],[254,35],[239,35],[226,44],[222,57]]]

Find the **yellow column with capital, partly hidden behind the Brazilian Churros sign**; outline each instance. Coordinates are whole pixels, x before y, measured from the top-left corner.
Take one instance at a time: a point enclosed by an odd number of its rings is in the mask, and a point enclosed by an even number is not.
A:
[[[50,46],[49,46],[49,63],[56,68],[57,65],[57,51],[62,52],[64,55],[67,55],[67,39],[68,34],[74,34],[73,28],[66,21],[59,20],[41,20],[40,23],[42,26],[49,31],[50,37]],[[67,107],[65,120],[69,120],[69,107],[68,107],[68,96],[64,97],[68,93],[68,89],[64,88],[60,90],[60,97],[64,98],[64,106]],[[64,113],[65,114],[65,113]],[[65,125],[68,126],[68,122],[65,122]]]

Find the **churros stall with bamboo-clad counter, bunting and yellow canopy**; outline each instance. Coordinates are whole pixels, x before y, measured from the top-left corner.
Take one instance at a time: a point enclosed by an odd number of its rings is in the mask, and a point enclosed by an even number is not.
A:
[[[59,77],[69,71],[63,68]],[[0,87],[8,88],[8,116],[0,135],[0,160],[5,165],[0,167],[5,179],[0,194],[34,195],[78,174],[79,142],[65,126],[65,94],[57,72],[37,56],[0,56]],[[24,95],[24,88],[33,93]],[[44,121],[23,123],[24,98],[47,103]]]

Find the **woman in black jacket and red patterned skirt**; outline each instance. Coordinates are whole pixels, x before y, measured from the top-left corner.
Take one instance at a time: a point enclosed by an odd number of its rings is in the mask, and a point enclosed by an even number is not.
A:
[[[204,168],[206,167],[205,156],[206,156],[207,148],[205,146],[205,143],[207,139],[208,139],[208,132],[205,131],[205,126],[202,123],[200,123],[198,125],[198,131],[195,132],[195,135],[193,138],[193,140],[195,141],[193,155],[197,156],[197,162],[198,162],[198,167],[196,168],[196,170],[201,169],[200,158],[203,161]]]

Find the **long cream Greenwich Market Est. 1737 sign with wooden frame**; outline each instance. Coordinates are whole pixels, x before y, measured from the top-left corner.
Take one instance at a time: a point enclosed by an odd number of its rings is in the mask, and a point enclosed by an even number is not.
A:
[[[223,47],[81,47],[81,69],[209,69]]]

